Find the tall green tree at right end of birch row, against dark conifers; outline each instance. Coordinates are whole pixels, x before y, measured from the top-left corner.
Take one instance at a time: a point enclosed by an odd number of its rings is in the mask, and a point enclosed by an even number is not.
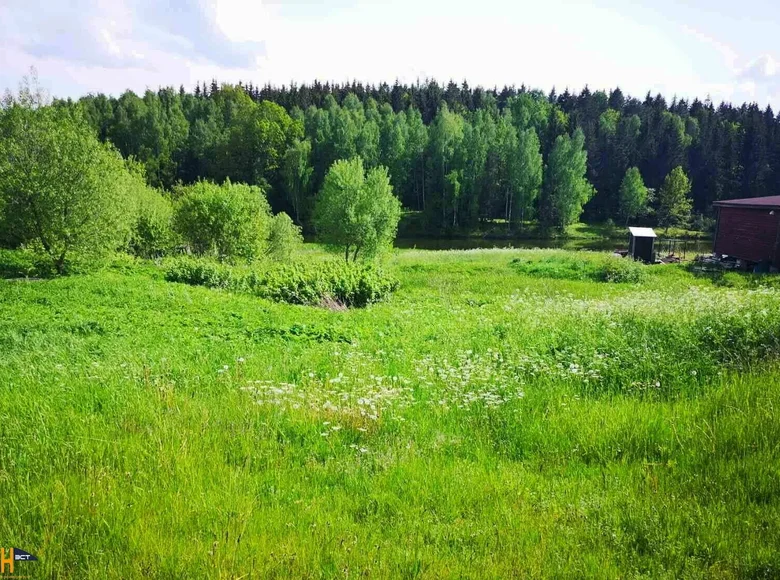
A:
[[[550,152],[545,173],[540,219],[544,226],[565,229],[582,214],[593,197],[593,186],[585,179],[587,152],[585,135],[577,129],[572,137],[559,135]]]

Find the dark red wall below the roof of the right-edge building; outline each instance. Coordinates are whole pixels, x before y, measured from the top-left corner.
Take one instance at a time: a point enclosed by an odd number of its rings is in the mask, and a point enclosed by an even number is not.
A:
[[[742,260],[780,262],[778,230],[780,210],[722,207],[718,218],[715,253]]]

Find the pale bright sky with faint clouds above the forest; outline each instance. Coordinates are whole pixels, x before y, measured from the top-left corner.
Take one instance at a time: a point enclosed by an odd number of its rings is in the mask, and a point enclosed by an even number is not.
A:
[[[0,88],[435,78],[780,109],[771,0],[0,0]]]

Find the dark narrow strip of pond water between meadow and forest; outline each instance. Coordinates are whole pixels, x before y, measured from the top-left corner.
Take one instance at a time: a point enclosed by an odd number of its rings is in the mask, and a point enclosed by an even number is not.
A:
[[[670,253],[670,242],[659,238],[656,242],[656,252]],[[487,240],[483,238],[398,238],[396,248],[417,248],[420,250],[472,250],[475,248],[558,248],[564,250],[609,251],[628,249],[628,239],[609,240],[597,239],[527,239],[527,240]],[[710,254],[712,241],[687,240],[678,241],[671,250],[676,254]]]

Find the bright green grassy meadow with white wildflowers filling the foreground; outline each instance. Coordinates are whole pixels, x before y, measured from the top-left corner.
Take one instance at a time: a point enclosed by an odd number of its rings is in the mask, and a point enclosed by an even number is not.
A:
[[[532,250],[385,268],[394,295],[348,310],[129,258],[0,280],[18,573],[780,577],[776,279]]]

